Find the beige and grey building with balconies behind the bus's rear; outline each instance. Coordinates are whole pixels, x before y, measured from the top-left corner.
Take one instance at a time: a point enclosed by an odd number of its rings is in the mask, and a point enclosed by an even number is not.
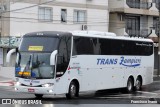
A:
[[[151,38],[158,68],[158,21],[160,0],[109,0],[109,31],[117,35]]]

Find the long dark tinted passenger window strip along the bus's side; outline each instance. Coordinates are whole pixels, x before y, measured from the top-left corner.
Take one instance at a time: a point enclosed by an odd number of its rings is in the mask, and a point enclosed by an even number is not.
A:
[[[73,55],[152,55],[153,43],[74,37]]]

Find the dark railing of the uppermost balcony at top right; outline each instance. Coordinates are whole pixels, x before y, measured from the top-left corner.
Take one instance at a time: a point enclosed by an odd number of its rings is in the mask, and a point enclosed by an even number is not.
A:
[[[150,9],[152,7],[150,2],[130,2],[127,0],[126,3],[130,8]]]

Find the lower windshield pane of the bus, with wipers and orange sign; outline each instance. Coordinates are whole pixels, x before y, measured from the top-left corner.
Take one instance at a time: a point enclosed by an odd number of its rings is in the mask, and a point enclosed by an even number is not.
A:
[[[51,53],[19,52],[16,77],[50,79],[54,78],[54,66],[50,65]]]

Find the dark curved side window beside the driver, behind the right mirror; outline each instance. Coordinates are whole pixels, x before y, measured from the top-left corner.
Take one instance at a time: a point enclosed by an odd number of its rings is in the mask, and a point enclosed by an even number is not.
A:
[[[62,76],[69,64],[71,53],[71,38],[62,37],[58,47],[56,77]]]

